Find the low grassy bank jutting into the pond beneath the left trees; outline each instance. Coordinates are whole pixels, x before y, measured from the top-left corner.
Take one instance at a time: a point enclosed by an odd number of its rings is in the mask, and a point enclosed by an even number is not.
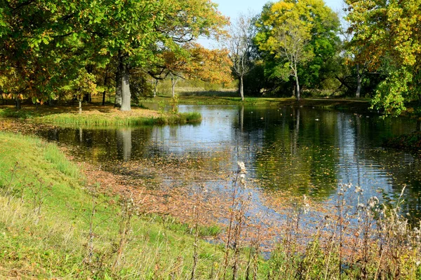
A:
[[[200,123],[200,113],[159,113],[153,110],[135,108],[121,112],[117,109],[101,106],[87,106],[79,113],[69,107],[46,107],[34,109],[25,107],[21,110],[13,108],[0,109],[0,117],[33,120],[35,123],[53,125],[174,125]]]

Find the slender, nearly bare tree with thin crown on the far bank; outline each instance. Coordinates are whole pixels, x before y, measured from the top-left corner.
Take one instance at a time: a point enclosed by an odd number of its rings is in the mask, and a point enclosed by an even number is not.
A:
[[[253,69],[253,39],[256,29],[253,15],[239,15],[236,22],[229,29],[230,37],[227,48],[229,59],[232,61],[232,70],[239,78],[239,92],[244,100],[243,78]]]

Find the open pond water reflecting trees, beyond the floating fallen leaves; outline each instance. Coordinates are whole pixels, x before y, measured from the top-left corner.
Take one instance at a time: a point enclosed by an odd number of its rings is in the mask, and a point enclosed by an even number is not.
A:
[[[236,162],[243,161],[260,208],[269,207],[265,198],[282,193],[329,204],[340,183],[361,186],[366,198],[383,200],[396,200],[405,186],[403,211],[421,216],[420,158],[382,148],[387,137],[413,131],[412,120],[290,106],[180,105],[180,111],[199,111],[203,120],[199,125],[62,128],[39,134],[72,147],[79,160],[117,173],[124,167],[134,178],[144,175],[127,169],[144,159],[168,165],[196,161],[215,172],[235,171]],[[196,180],[218,188],[213,179]]]

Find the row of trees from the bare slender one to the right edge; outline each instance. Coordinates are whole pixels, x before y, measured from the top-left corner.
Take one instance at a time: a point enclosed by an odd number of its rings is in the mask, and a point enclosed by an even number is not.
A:
[[[368,97],[395,115],[420,100],[420,0],[346,0],[344,12],[341,25],[322,0],[283,0],[241,15],[228,44],[239,91]]]

